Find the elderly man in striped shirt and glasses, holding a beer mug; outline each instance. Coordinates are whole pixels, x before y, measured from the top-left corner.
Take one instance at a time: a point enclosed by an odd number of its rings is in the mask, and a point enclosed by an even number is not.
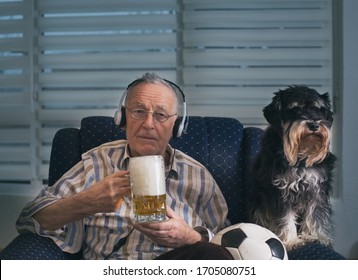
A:
[[[65,252],[82,249],[85,259],[232,259],[208,242],[227,216],[218,185],[203,165],[168,144],[179,117],[178,90],[150,73],[132,82],[119,108],[127,140],[84,153],[25,206],[18,231],[52,238]],[[164,222],[135,223],[123,199],[131,193],[129,158],[143,155],[165,161]]]

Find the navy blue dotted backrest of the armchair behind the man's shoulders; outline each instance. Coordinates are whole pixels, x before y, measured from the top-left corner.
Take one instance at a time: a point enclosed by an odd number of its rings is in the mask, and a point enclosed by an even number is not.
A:
[[[262,134],[263,130],[244,128],[233,118],[190,117],[187,134],[170,142],[212,173],[227,200],[232,223],[246,221],[248,168],[260,149]],[[59,130],[52,144],[49,185],[80,161],[82,153],[118,139],[125,139],[125,133],[112,117],[87,117],[80,129]]]

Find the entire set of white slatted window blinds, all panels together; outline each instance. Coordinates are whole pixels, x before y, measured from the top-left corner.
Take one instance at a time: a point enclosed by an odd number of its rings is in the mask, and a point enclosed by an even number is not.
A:
[[[46,183],[51,143],[113,116],[144,72],[189,115],[264,126],[291,84],[332,91],[332,0],[0,0],[0,185]]]

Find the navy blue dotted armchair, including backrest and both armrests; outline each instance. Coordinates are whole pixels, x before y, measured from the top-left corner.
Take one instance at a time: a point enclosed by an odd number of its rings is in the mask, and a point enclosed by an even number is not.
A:
[[[192,156],[213,174],[229,207],[231,223],[246,222],[246,193],[249,168],[260,150],[263,130],[244,128],[232,118],[190,117],[188,133],[170,144]],[[83,152],[102,143],[124,139],[111,117],[88,117],[81,128],[59,130],[53,140],[49,185],[80,160]],[[41,240],[44,243],[42,244]],[[63,253],[48,238],[35,234],[17,236],[1,253],[1,259],[77,259],[79,254]],[[302,247],[289,254],[290,259],[342,259],[329,248],[318,244]]]

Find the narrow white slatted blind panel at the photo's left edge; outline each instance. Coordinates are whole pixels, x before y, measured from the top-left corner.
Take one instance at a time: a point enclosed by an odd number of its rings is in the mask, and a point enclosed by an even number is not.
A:
[[[34,150],[30,1],[0,1],[0,183],[29,184]]]

